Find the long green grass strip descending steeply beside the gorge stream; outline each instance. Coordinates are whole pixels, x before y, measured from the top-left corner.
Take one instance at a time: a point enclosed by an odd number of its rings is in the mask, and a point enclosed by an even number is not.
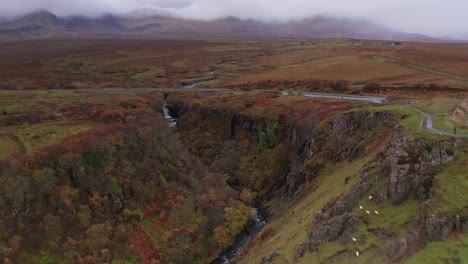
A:
[[[258,245],[258,248],[252,249],[255,254],[247,256],[243,262],[260,263],[261,256],[277,250],[281,255],[278,263],[294,263],[296,251],[308,241],[308,230],[310,230],[315,212],[320,210],[332,198],[348,191],[358,181],[359,170],[369,160],[370,157],[366,157],[325,168],[321,175],[314,180],[313,190],[305,190],[307,194],[303,199],[288,207],[281,213],[281,217],[276,217],[269,223],[273,229],[273,234],[261,245]],[[344,179],[348,176],[351,177],[351,180],[345,185]],[[285,241],[288,242],[285,243]],[[334,242],[330,243],[330,245],[332,247],[321,248],[321,254],[322,249],[328,251],[327,255],[332,255],[342,249],[339,244]],[[301,263],[318,263],[319,259],[307,250],[306,255],[300,261]]]

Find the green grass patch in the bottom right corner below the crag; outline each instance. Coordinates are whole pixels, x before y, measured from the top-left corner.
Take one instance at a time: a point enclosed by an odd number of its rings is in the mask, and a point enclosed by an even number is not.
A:
[[[426,248],[408,259],[406,264],[446,264],[468,263],[468,235],[461,235],[459,240],[434,241],[427,244]]]

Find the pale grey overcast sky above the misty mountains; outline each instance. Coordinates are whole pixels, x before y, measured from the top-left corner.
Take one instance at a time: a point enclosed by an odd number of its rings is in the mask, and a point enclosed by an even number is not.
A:
[[[40,9],[57,15],[98,16],[162,8],[178,16],[297,20],[316,15],[367,19],[389,28],[468,39],[468,0],[0,0],[0,16]]]

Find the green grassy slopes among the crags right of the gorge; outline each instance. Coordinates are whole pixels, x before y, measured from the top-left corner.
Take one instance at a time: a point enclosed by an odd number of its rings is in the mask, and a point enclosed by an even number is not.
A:
[[[401,121],[405,128],[405,132],[410,137],[426,138],[433,140],[447,139],[447,137],[435,136],[419,128],[421,116],[415,110],[401,106],[374,106],[370,110],[387,110],[393,111],[400,115],[407,115],[407,118]],[[466,143],[461,142],[459,145],[462,149],[466,148]],[[375,149],[378,151],[378,149]],[[463,151],[466,152],[466,149]],[[333,199],[337,195],[346,192],[349,187],[358,179],[357,173],[362,166],[369,161],[375,153],[369,154],[367,157],[354,161],[352,163],[343,162],[330,166],[324,171],[313,184],[307,188],[299,201],[291,202],[291,205],[284,212],[280,212],[273,217],[269,224],[273,229],[273,235],[268,237],[261,244],[255,245],[242,260],[243,263],[259,263],[262,256],[269,255],[276,251],[279,256],[275,259],[275,263],[295,263],[295,254],[301,245],[308,242],[307,234],[313,221],[316,211],[320,210],[326,202]],[[468,200],[466,198],[466,189],[468,188],[468,174],[465,172],[468,168],[467,154],[461,153],[456,161],[442,166],[441,172],[435,177],[434,198],[428,203],[429,208],[432,208],[434,213],[442,213],[452,215],[460,210],[466,210]],[[371,172],[375,173],[375,172]],[[344,179],[347,176],[352,176],[351,185],[344,185]],[[385,180],[372,183],[372,189],[385,188]],[[369,193],[372,192],[372,189]],[[377,237],[370,230],[376,228],[388,229],[396,234],[405,232],[406,226],[412,220],[419,217],[421,203],[419,201],[410,200],[401,205],[394,206],[390,202],[375,204],[367,198],[361,200],[360,205],[363,210],[355,208],[352,214],[366,216],[365,210],[369,210],[371,214],[368,216],[369,225],[365,225],[362,221],[359,223],[357,232],[353,237],[357,238],[357,242],[351,242],[347,246],[343,246],[340,241],[328,242],[325,241],[319,250],[310,253],[305,251],[305,256],[299,259],[299,263],[326,263],[333,257],[333,261],[337,263],[383,263],[388,261],[385,255],[380,252],[379,248],[385,248],[390,245],[391,240],[383,240]],[[463,209],[465,208],[465,209]],[[379,212],[379,215],[374,213],[374,210]],[[456,259],[466,259],[466,253],[462,250],[466,246],[466,237],[461,241],[448,240],[443,242],[429,243],[427,249],[421,251],[411,259],[410,263],[447,263],[445,257],[450,247],[455,247],[457,253]],[[360,257],[353,257],[355,251],[360,252]],[[348,252],[349,254],[340,254]],[[421,262],[423,260],[431,260],[429,262]],[[444,262],[445,261],[445,262]],[[459,262],[458,262],[459,263]],[[463,262],[462,262],[463,263]]]

